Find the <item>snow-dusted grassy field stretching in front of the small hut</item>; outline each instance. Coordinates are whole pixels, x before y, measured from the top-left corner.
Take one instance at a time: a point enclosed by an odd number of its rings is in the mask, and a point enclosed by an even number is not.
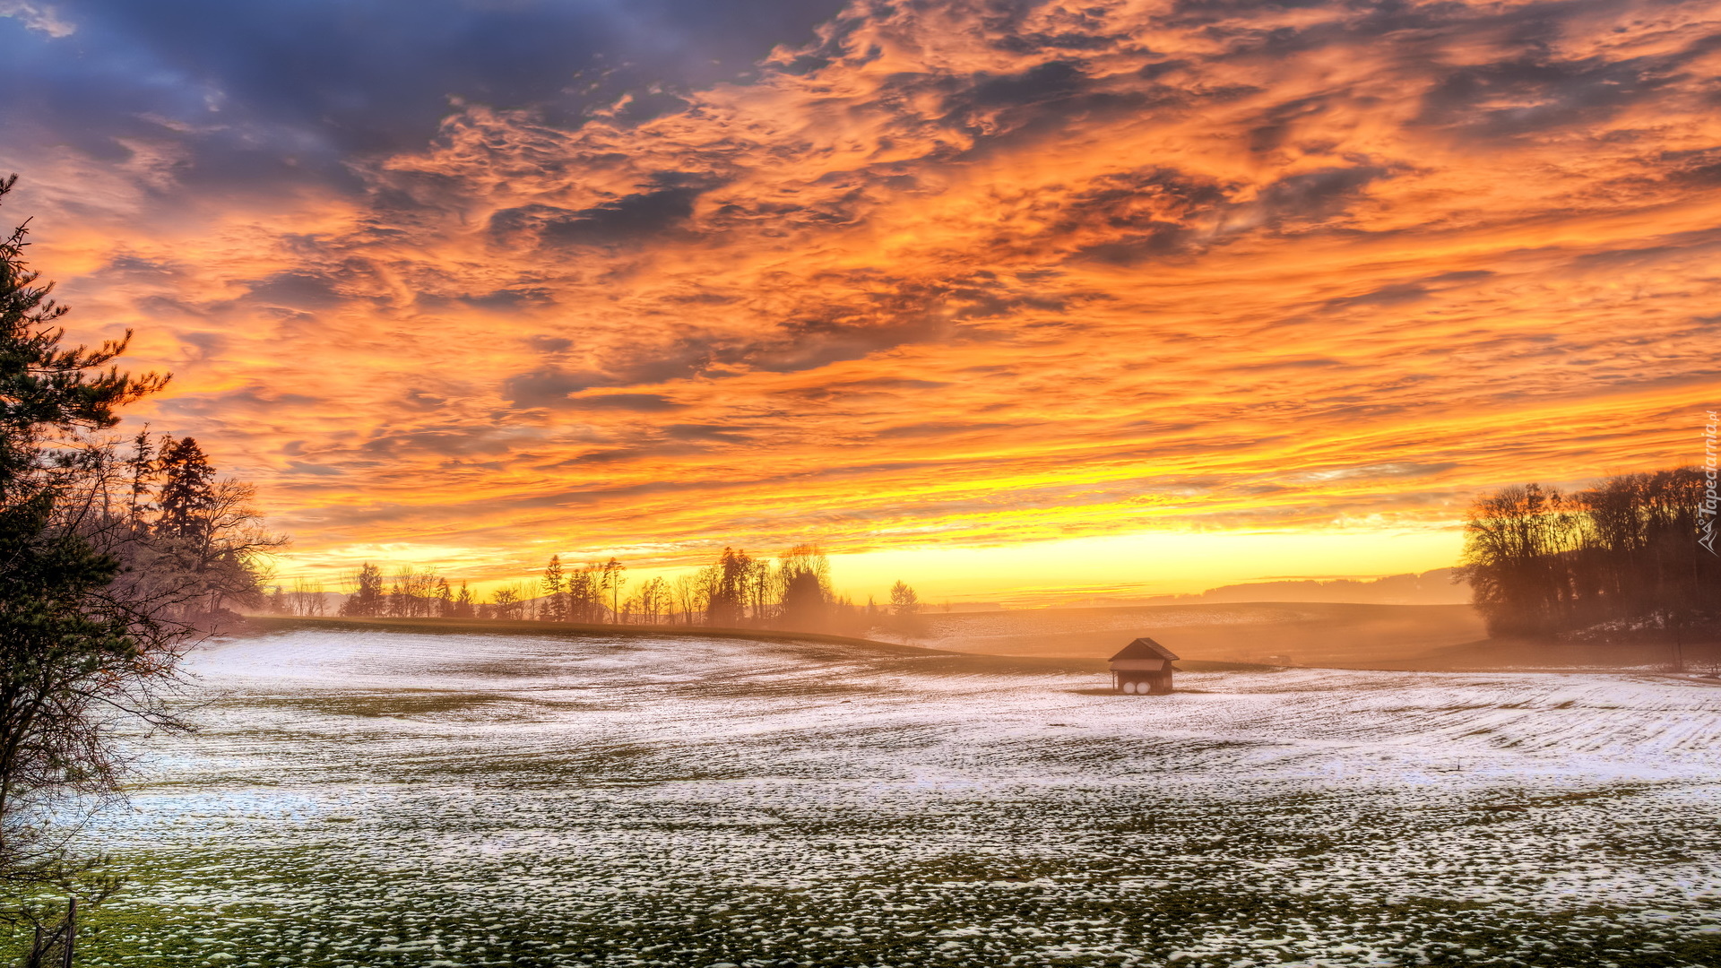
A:
[[[1721,965],[1721,689],[836,644],[200,651],[88,965]]]

